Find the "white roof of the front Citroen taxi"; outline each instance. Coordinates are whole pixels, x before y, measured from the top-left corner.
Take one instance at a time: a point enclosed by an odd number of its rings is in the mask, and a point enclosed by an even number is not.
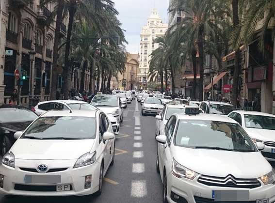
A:
[[[177,119],[179,120],[205,120],[205,121],[221,121],[227,123],[235,123],[238,124],[235,120],[221,115],[214,115],[214,114],[207,114],[207,113],[200,113],[197,115],[189,115],[185,113],[178,113],[176,114]]]

